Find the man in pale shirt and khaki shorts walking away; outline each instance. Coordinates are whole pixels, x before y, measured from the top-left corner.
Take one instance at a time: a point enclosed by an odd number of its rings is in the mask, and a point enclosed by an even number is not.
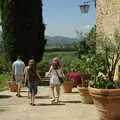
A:
[[[18,90],[16,94],[16,96],[18,97],[21,96],[20,90],[21,90],[21,85],[24,81],[24,68],[25,68],[25,64],[22,61],[21,56],[18,56],[17,60],[12,64],[12,76],[18,85]]]

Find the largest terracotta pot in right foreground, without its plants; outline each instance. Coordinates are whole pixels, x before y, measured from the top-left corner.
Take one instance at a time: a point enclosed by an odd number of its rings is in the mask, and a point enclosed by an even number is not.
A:
[[[120,120],[120,89],[96,89],[89,87],[98,109],[100,120]]]

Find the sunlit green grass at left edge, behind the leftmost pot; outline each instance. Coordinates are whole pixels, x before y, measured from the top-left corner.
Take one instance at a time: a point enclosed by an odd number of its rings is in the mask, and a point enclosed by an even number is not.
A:
[[[8,89],[8,80],[10,80],[11,75],[9,73],[0,74],[0,91]]]

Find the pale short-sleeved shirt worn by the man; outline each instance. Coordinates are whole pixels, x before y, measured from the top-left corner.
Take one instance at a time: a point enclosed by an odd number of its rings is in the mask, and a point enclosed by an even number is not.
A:
[[[24,75],[25,64],[21,60],[17,60],[13,63],[14,75]]]

